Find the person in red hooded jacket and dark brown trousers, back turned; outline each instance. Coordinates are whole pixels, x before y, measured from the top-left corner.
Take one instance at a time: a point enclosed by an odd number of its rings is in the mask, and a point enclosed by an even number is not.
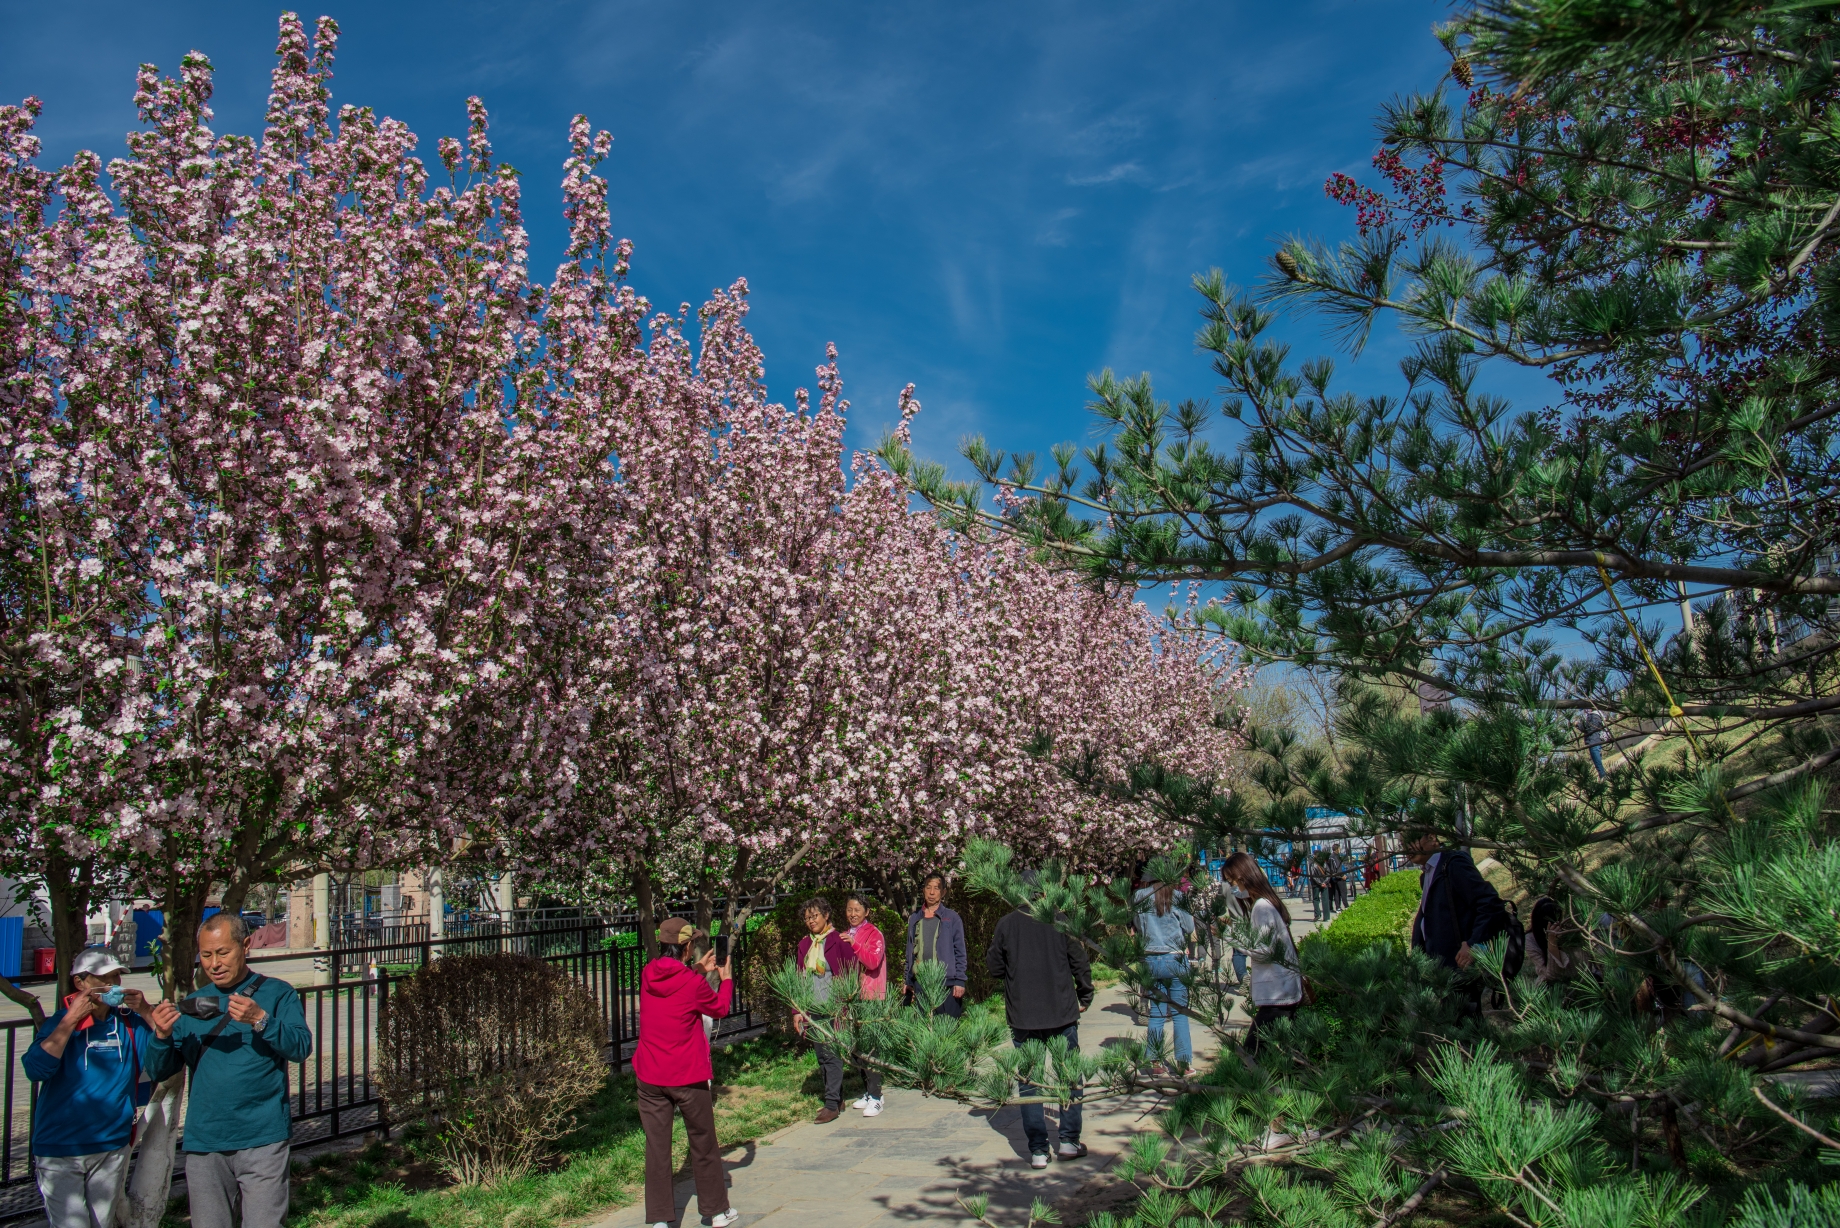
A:
[[[723,1018],[734,996],[729,965],[716,965],[716,952],[690,961],[696,928],[672,917],[659,926],[659,957],[638,978],[638,1048],[633,1049],[633,1077],[638,1079],[638,1121],[646,1127],[646,1219],[653,1228],[668,1228],[677,1219],[672,1187],[672,1118],[684,1116],[690,1136],[690,1169],[696,1173],[696,1200],[703,1219],[714,1228],[729,1228],[742,1217],[729,1206],[729,1180],[716,1143],[716,1105],[708,1081],[708,1035],[703,1016]],[[721,976],[721,989],[708,987],[708,974]]]

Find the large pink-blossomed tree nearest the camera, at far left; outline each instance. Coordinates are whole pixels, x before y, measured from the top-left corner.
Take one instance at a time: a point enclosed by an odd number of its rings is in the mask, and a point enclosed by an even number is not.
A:
[[[120,208],[79,155],[48,223],[6,118],[9,827],[156,884],[180,981],[213,884],[453,832],[524,643],[517,180],[477,99],[432,190],[403,125],[335,127],[335,35],[283,17],[259,142],[210,129],[202,57],[144,68]]]

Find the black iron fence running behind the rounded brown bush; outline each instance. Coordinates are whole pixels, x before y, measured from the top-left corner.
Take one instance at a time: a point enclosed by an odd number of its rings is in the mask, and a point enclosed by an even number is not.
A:
[[[673,909],[677,915],[688,909]],[[313,1031],[313,1053],[296,1062],[289,1075],[289,1105],[294,1143],[346,1138],[386,1127],[377,1099],[374,1072],[381,1053],[379,1022],[388,1011],[394,985],[434,959],[462,954],[513,952],[554,963],[581,981],[600,1003],[607,1029],[607,1048],[615,1066],[631,1059],[638,1040],[638,974],[644,946],[633,915],[589,919],[545,919],[539,928],[513,928],[493,921],[467,926],[466,933],[429,937],[427,926],[399,926],[366,933],[366,943],[324,952],[285,952],[252,956],[256,970],[293,961],[304,965],[313,983],[294,989]],[[745,957],[747,935],[734,943],[734,957]],[[311,961],[311,963],[309,963]],[[272,968],[269,976],[298,981]],[[718,1035],[756,1027],[758,1003],[734,981],[734,1002]],[[0,1105],[0,1221],[37,1215],[39,1195],[31,1171],[31,1108],[37,1086],[26,1079],[20,1059],[33,1044],[31,1020],[0,1022],[6,1033],[4,1105]]]

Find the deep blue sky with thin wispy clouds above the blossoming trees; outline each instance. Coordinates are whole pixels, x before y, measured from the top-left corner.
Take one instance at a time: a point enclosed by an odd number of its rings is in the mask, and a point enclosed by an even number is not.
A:
[[[432,160],[493,114],[524,173],[534,267],[561,249],[569,118],[604,171],[635,285],[661,306],[747,276],[773,392],[841,350],[852,442],[918,385],[916,447],[948,458],[1089,440],[1086,377],[1150,370],[1213,396],[1189,276],[1260,276],[1286,234],[1341,237],[1330,171],[1369,177],[1373,114],[1433,83],[1443,2],[390,4],[329,0],[335,103],[407,122]],[[136,64],[217,64],[219,131],[259,133],[280,7],[0,0],[0,98],[44,99],[44,160],[123,149]],[[1301,353],[1330,350],[1308,320]],[[1358,379],[1397,387],[1382,337]],[[1343,359],[1345,361],[1345,359]],[[1529,388],[1531,390],[1531,388]]]

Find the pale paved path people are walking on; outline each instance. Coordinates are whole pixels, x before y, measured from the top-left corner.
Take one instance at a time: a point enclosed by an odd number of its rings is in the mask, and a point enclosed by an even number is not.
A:
[[[1306,911],[1305,906],[1303,911]],[[1292,911],[1299,911],[1292,904]],[[1301,939],[1316,926],[1294,926]],[[1235,1013],[1238,1022],[1244,1014]],[[1113,1037],[1141,1037],[1130,1005],[1117,989],[1104,989],[1080,1018],[1080,1049],[1093,1051]],[[1213,1057],[1213,1035],[1194,1029],[1196,1055]],[[1086,1106],[1086,1160],[1029,1167],[1021,1110],[966,1108],[957,1101],[918,1092],[889,1090],[887,1110],[863,1118],[845,1108],[830,1125],[799,1123],[756,1143],[723,1153],[729,1199],[742,1211],[738,1228],[894,1228],[896,1224],[951,1224],[970,1217],[960,1197],[990,1195],[988,1217],[997,1224],[1029,1219],[1034,1199],[1047,1199],[1067,1222],[1110,1210],[1133,1191],[1108,1176],[1144,1116],[1159,1110],[1154,1095],[1100,1101]],[[1049,1110],[1049,1136],[1054,1110]],[[696,1186],[677,1186],[679,1222],[696,1228]],[[620,1208],[592,1228],[642,1228],[642,1202]]]

